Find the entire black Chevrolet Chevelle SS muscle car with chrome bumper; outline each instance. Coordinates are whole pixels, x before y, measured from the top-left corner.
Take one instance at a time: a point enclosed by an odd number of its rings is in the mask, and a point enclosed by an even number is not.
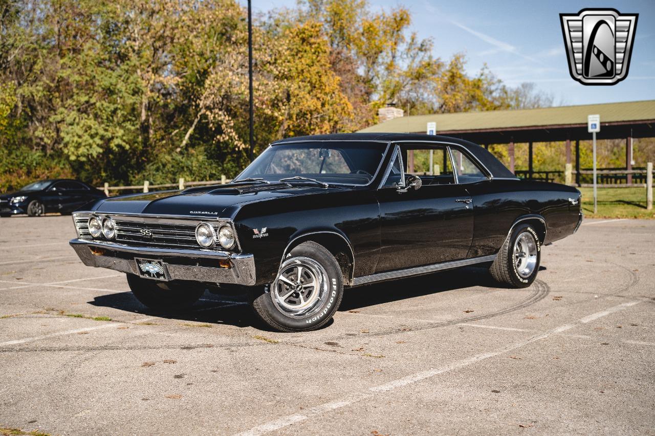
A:
[[[272,143],[227,185],[103,198],[73,220],[84,264],[125,272],[146,306],[236,285],[271,327],[303,331],[344,287],[471,264],[529,286],[582,213],[576,189],[517,179],[467,141],[339,134]]]

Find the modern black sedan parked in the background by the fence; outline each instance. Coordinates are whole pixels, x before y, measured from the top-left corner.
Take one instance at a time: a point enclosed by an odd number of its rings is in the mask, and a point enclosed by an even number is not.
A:
[[[0,195],[0,217],[23,213],[30,217],[40,217],[48,212],[65,215],[83,204],[105,197],[104,192],[79,180],[40,180],[17,192]]]

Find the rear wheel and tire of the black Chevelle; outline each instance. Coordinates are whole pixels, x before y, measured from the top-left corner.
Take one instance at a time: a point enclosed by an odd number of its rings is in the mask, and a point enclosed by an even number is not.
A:
[[[498,251],[489,272],[498,283],[528,287],[534,282],[541,261],[539,236],[529,224],[519,224]]]

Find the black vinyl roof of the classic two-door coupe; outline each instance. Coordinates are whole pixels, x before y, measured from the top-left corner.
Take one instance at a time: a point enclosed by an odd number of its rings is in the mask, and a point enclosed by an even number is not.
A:
[[[275,141],[271,145],[279,145],[284,143],[293,143],[297,141],[384,141],[384,142],[396,142],[396,141],[429,141],[429,142],[445,142],[457,144],[466,149],[469,153],[476,156],[476,158],[482,162],[482,164],[487,167],[487,170],[491,172],[493,177],[502,177],[502,178],[517,178],[510,170],[506,168],[496,159],[496,157],[489,153],[483,147],[472,143],[470,141],[465,141],[464,139],[458,139],[456,137],[450,136],[440,136],[440,135],[425,135],[425,134],[398,134],[398,133],[350,133],[350,134],[329,134],[329,135],[312,135],[312,136],[298,136],[298,137],[288,137],[285,139],[280,139]]]

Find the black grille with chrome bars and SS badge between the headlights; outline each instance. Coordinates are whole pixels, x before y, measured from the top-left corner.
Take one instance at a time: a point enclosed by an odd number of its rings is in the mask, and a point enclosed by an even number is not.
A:
[[[116,242],[130,245],[198,248],[195,225],[139,223],[122,221],[116,217],[114,221]],[[152,236],[147,235],[148,230]]]

